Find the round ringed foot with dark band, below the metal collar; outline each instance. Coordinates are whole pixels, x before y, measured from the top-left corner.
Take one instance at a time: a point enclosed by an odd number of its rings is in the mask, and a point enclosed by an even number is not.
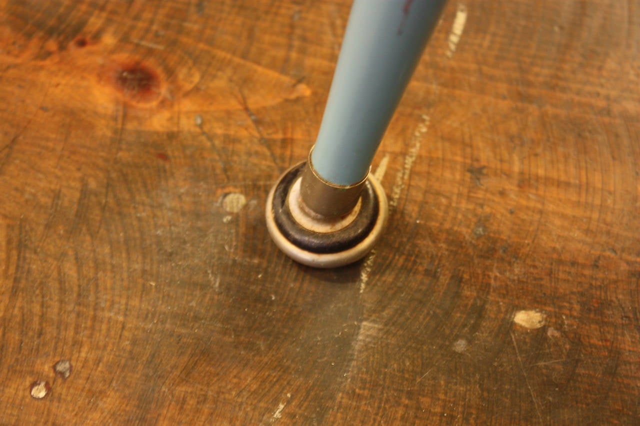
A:
[[[369,176],[355,209],[328,218],[301,205],[300,178],[307,162],[285,171],[269,192],[267,229],[284,253],[296,262],[333,268],[363,258],[373,248],[387,222],[387,196]]]

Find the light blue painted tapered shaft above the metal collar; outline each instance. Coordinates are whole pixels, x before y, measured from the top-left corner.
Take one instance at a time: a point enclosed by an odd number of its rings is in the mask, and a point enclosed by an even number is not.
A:
[[[355,0],[311,162],[335,185],[367,176],[371,161],[444,0]]]

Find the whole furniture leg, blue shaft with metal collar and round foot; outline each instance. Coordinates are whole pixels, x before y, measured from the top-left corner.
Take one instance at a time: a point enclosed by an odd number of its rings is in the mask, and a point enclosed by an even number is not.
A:
[[[316,145],[267,199],[269,233],[294,260],[346,265],[382,235],[387,196],[371,161],[444,3],[354,1]]]

